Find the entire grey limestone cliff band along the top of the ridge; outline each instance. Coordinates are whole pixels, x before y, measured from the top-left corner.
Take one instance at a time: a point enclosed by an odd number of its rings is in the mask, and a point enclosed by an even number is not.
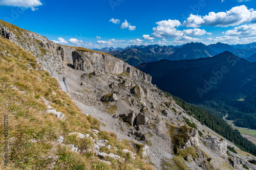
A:
[[[134,79],[151,82],[151,76],[115,57],[87,52],[88,49],[86,48],[82,48],[83,51],[78,51],[77,47],[55,44],[44,36],[18,28],[3,20],[0,20],[0,33],[1,36],[32,53],[38,63],[44,66],[44,69],[49,71],[53,78],[57,79],[60,87],[65,92],[69,92],[66,83],[67,64],[74,64],[76,69],[91,72],[93,72],[93,68],[117,75],[126,71]],[[85,61],[87,64],[85,64]]]

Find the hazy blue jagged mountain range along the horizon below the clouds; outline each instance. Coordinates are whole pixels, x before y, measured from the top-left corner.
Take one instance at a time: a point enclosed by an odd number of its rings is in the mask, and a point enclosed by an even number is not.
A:
[[[250,56],[256,53],[256,42],[237,45],[228,45],[220,42],[205,45],[201,42],[191,42],[179,46],[131,45],[125,48],[105,47],[101,50],[93,50],[108,53],[133,66],[162,59],[174,61],[207,58],[225,51],[229,51],[240,58],[248,59],[250,62],[256,61],[253,57],[249,59]]]

